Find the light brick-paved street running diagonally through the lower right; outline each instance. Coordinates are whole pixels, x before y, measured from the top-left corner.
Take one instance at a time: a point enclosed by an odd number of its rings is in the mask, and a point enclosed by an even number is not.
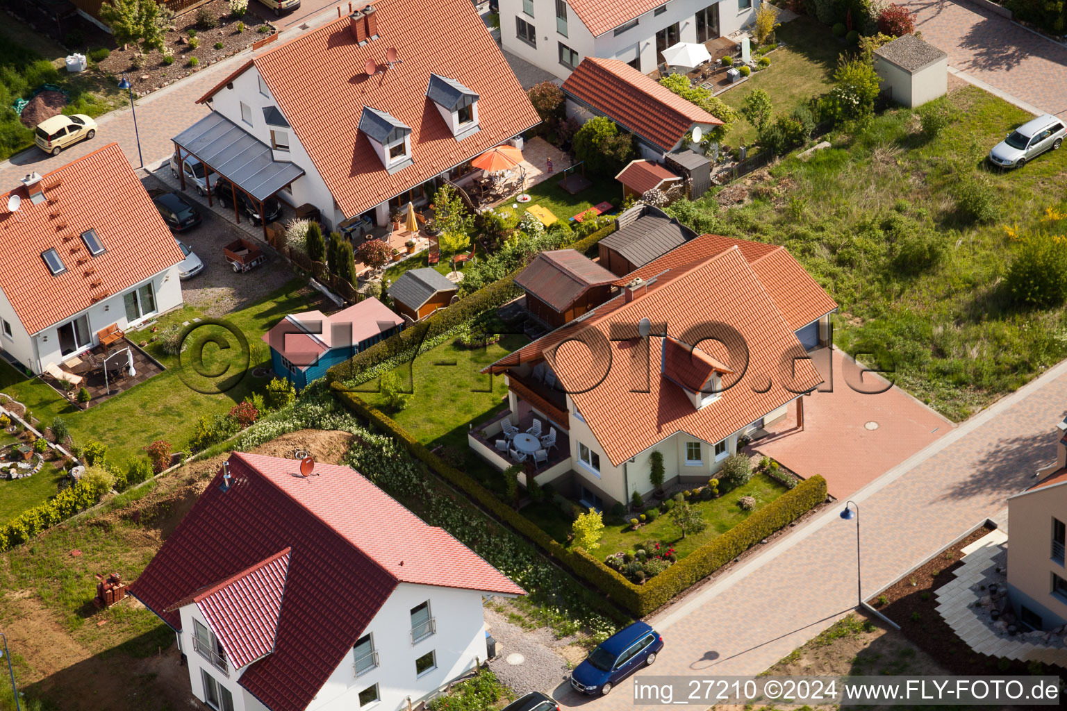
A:
[[[1067,361],[1001,400],[851,498],[862,522],[863,595],[870,597],[1034,482],[1055,456],[1067,402]],[[841,503],[713,585],[655,615],[667,643],[643,674],[754,675],[857,604],[856,529]],[[633,679],[598,711],[633,705]],[[576,694],[560,686],[562,705]]]

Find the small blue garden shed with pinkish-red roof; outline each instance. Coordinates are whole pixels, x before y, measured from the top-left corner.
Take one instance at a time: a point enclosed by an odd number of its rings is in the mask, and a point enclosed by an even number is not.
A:
[[[274,373],[303,388],[325,375],[331,366],[400,333],[402,326],[401,317],[371,296],[332,316],[290,313],[262,340],[270,345]]]

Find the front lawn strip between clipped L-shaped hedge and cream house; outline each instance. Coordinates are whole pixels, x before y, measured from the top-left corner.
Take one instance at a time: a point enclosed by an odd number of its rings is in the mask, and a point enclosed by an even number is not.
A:
[[[752,512],[742,511],[740,506],[737,505],[738,499],[744,496],[754,497],[757,505],[753,511],[758,511],[785,494],[785,490],[784,486],[769,476],[755,474],[744,486],[718,499],[694,502],[691,505],[703,515],[708,526],[703,533],[689,535],[686,538],[679,535],[670,517],[666,514],[662,514],[655,521],[646,523],[637,531],[631,529],[628,523],[605,521],[604,537],[601,538],[600,548],[596,549],[596,556],[603,559],[611,553],[625,551],[634,544],[655,539],[666,546],[673,547],[678,556],[683,559],[751,515]],[[562,513],[550,502],[529,504],[521,513],[556,540],[562,544],[567,543],[567,536],[571,532],[570,520],[566,519]],[[630,516],[631,514],[627,514],[627,520]]]

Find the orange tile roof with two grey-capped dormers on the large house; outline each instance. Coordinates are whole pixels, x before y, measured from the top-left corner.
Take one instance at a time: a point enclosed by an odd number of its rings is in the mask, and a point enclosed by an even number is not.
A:
[[[380,36],[363,47],[352,36],[348,17],[341,17],[252,60],[346,216],[419,185],[540,120],[468,0],[434,0],[426,12],[409,0],[373,5]],[[430,27],[447,29],[447,45],[430,41]],[[403,62],[367,77],[364,65],[372,60],[384,69],[389,47]],[[431,74],[478,94],[479,131],[456,141],[426,96]],[[200,101],[229,81],[233,77]],[[364,106],[412,128],[413,165],[388,174],[368,139],[356,131]]]

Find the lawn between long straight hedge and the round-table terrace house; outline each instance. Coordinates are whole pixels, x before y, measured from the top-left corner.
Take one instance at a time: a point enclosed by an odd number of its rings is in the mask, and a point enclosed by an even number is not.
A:
[[[479,371],[528,342],[525,336],[509,335],[484,349],[465,349],[448,340],[420,355],[413,365],[394,371],[409,385],[413,374],[413,397],[405,409],[383,411],[420,442],[456,448],[469,454],[467,463],[472,467],[479,467],[483,463],[467,446],[467,424],[477,424],[508,405],[504,377],[490,378]],[[377,387],[376,379],[356,389]],[[375,407],[384,408],[384,400],[378,392],[361,392],[360,397]]]

